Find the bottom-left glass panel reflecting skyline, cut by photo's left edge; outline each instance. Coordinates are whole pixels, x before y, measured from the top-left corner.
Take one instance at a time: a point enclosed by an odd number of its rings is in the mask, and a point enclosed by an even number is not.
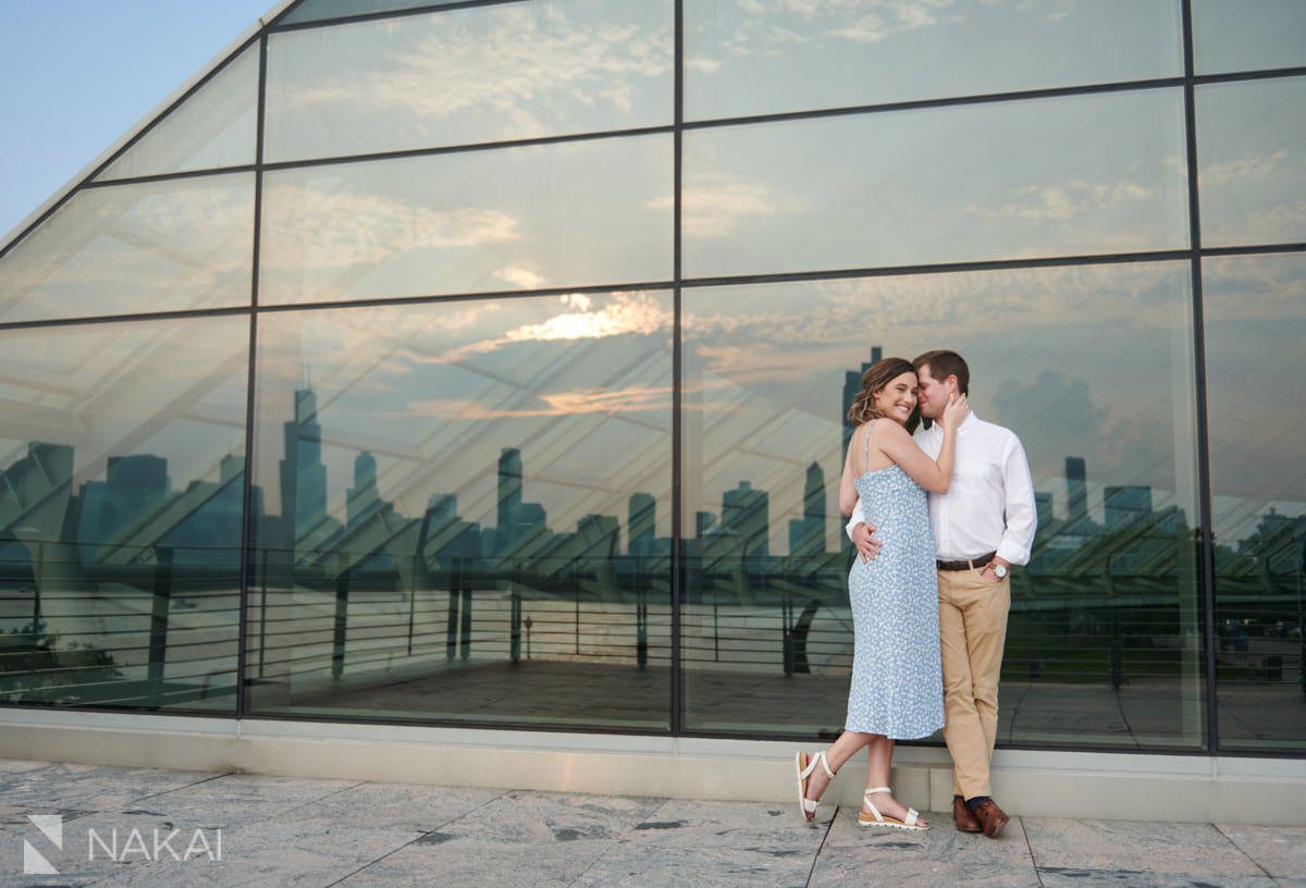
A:
[[[0,333],[0,701],[235,712],[248,317]]]

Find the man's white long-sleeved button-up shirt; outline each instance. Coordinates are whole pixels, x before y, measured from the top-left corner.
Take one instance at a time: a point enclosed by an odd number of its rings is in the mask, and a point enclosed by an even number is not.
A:
[[[914,435],[931,460],[943,449],[943,427],[934,423]],[[858,499],[848,534],[859,521],[875,524]],[[1034,483],[1020,439],[1010,428],[974,414],[957,430],[957,456],[947,494],[930,494],[930,526],[940,559],[969,560],[996,551],[1012,564],[1027,564],[1038,517]]]

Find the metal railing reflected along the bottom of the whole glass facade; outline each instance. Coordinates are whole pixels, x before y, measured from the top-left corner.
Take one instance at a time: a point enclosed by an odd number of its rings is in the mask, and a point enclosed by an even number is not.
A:
[[[1187,528],[1147,558],[1102,543],[1100,558],[1053,564],[1040,551],[1033,569],[1013,573],[1003,680],[1119,690],[1190,675],[1200,662],[1192,551]],[[0,562],[0,700],[234,710],[239,550],[46,543],[34,555]],[[256,551],[246,671],[255,710],[289,705],[291,682],[298,693],[533,659],[671,666],[665,556],[411,555],[401,571],[402,558],[332,555],[296,564],[290,551]],[[688,559],[682,667],[846,675],[844,558],[815,569],[804,559]],[[1242,618],[1216,627],[1221,678],[1306,692],[1301,623],[1281,619],[1302,609],[1301,572],[1262,564],[1218,582],[1220,612]],[[1276,619],[1249,620],[1258,607]]]

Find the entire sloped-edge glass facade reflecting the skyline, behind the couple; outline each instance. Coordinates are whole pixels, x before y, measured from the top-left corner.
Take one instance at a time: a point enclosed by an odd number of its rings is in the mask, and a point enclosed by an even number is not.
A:
[[[949,347],[1037,491],[999,744],[1306,753],[1247,9],[300,0],[0,249],[0,703],[832,735],[846,405]]]

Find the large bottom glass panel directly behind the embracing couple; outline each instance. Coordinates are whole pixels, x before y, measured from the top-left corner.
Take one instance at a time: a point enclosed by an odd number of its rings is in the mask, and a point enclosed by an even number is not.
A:
[[[868,359],[944,346],[1037,490],[999,742],[1199,748],[1188,281],[1168,262],[686,290],[687,727],[838,731],[845,410]]]

